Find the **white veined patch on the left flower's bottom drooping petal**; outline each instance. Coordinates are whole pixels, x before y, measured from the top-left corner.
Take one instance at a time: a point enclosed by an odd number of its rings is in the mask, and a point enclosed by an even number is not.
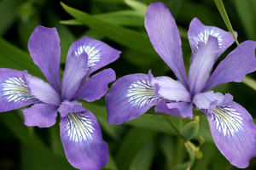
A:
[[[95,129],[89,116],[85,116],[82,113],[69,113],[64,121],[67,135],[71,141],[88,143],[93,139],[92,133]]]

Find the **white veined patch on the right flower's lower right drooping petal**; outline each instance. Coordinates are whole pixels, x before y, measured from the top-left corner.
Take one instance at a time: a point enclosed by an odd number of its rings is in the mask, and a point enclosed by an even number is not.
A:
[[[212,111],[212,121],[219,132],[224,133],[224,136],[233,136],[241,133],[243,130],[243,119],[241,114],[229,105],[218,106]]]

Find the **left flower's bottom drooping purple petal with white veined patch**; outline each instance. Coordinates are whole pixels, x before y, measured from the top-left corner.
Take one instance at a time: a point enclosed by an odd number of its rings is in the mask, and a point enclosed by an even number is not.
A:
[[[108,144],[102,140],[96,117],[85,109],[68,111],[71,112],[61,117],[61,142],[67,160],[78,169],[101,169],[108,162]]]

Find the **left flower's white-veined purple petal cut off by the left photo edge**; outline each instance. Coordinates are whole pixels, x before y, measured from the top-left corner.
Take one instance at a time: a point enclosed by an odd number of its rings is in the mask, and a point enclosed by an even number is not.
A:
[[[26,71],[0,69],[0,112],[15,110],[38,101],[29,93],[24,74]]]

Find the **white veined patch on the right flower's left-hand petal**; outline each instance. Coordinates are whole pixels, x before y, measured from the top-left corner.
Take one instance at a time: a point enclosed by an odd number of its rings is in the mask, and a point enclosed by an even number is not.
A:
[[[158,99],[154,96],[154,88],[145,80],[132,82],[127,90],[126,97],[131,106],[137,108],[149,105]]]

